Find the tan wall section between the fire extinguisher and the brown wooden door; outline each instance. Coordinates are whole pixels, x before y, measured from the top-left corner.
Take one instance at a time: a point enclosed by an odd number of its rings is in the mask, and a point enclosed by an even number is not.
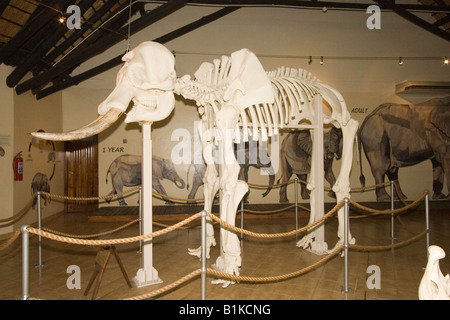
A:
[[[23,180],[14,182],[14,213],[22,210],[33,190],[64,194],[64,145],[34,139],[29,133],[62,129],[61,93],[37,101],[31,93],[14,94],[14,154],[22,151]],[[34,186],[34,189],[33,189]],[[41,201],[42,219],[64,210],[59,200]],[[15,228],[37,221],[37,207],[16,223]]]

